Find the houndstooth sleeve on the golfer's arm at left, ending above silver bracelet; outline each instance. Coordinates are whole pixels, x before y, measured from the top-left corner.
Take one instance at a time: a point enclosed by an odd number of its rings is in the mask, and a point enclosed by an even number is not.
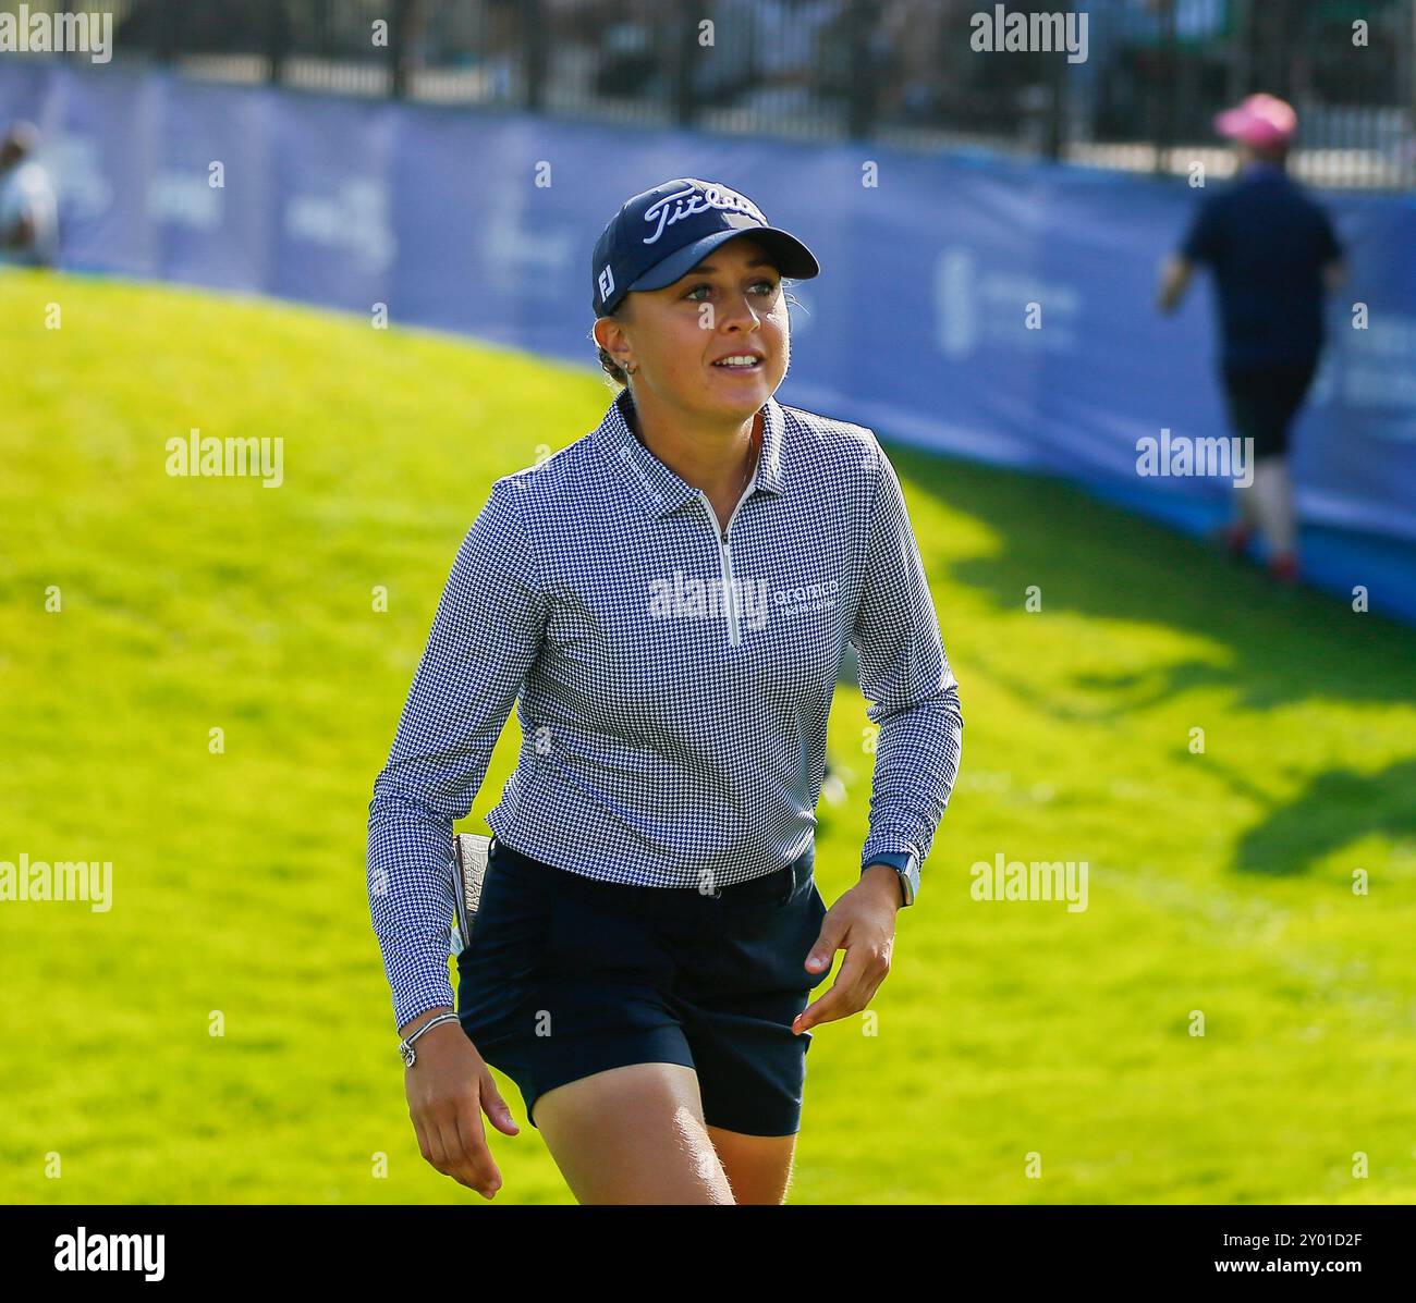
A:
[[[472,809],[545,635],[547,597],[515,484],[498,480],[457,549],[368,818],[368,903],[402,1029],[453,1004],[453,823]]]

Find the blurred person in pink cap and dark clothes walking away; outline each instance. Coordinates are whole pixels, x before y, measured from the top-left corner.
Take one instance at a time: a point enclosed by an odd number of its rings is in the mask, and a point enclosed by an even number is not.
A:
[[[1327,214],[1287,174],[1293,108],[1250,95],[1215,119],[1235,141],[1235,183],[1201,204],[1185,241],[1161,270],[1158,307],[1174,311],[1197,263],[1215,276],[1221,375],[1235,433],[1253,439],[1253,481],[1235,488],[1235,518],[1221,539],[1245,555],[1257,528],[1269,574],[1298,577],[1289,477],[1289,429],[1323,351],[1324,291],[1342,280],[1342,249]]]

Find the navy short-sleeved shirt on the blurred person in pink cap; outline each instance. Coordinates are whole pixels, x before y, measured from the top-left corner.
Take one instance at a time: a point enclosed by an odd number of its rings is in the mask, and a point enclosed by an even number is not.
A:
[[[1215,272],[1221,361],[1307,364],[1323,348],[1323,267],[1342,256],[1327,214],[1280,167],[1250,164],[1195,214],[1181,256]]]

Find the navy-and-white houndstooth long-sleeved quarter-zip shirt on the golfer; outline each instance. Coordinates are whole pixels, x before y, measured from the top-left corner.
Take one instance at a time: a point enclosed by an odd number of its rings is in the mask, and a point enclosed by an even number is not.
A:
[[[844,644],[879,727],[861,863],[923,862],[963,716],[895,468],[864,426],[769,399],[726,531],[627,423],[491,485],[374,782],[368,890],[396,1026],[453,1004],[453,822],[513,703],[487,815],[606,881],[722,887],[809,849]]]

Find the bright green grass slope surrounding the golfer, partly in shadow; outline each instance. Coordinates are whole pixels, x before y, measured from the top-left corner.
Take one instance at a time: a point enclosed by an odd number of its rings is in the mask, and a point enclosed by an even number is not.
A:
[[[609,392],[358,318],[31,273],[0,276],[0,860],[115,864],[110,913],[0,904],[0,1200],[481,1205],[408,1119],[367,806],[490,481]],[[283,487],[169,477],[193,426],[282,436]],[[793,1200],[1416,1200],[1413,632],[1062,484],[892,456],[963,767],[874,1017],[816,1031]],[[865,835],[865,723],[843,688],[827,900]],[[1000,852],[1086,860],[1089,908],[971,900]],[[569,1201],[503,1087],[523,1133],[490,1132],[497,1203]]]

